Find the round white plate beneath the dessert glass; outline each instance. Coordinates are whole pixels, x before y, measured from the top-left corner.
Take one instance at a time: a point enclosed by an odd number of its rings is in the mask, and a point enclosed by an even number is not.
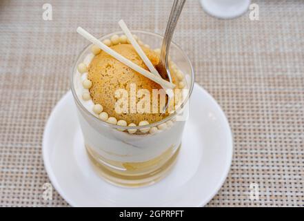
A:
[[[114,186],[93,171],[71,92],[55,106],[43,134],[45,169],[72,206],[203,206],[223,185],[232,150],[232,133],[221,107],[197,84],[176,165],[152,186]]]

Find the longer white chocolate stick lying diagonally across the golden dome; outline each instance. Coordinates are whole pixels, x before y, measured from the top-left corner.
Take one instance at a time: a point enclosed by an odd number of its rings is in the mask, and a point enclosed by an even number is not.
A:
[[[126,59],[125,57],[123,57],[122,55],[120,55],[119,53],[117,53],[116,51],[112,50],[111,48],[109,48],[108,46],[106,46],[105,44],[103,44],[101,41],[99,41],[99,39],[97,39],[96,37],[94,37],[93,35],[91,35],[89,32],[87,32],[83,28],[78,27],[77,28],[77,32],[80,35],[82,35],[83,37],[85,37],[85,39],[88,39],[93,44],[99,46],[99,48],[101,48],[101,50],[105,51],[106,53],[108,53],[109,55],[111,55],[115,59],[121,61],[121,63],[125,64],[126,66],[128,66],[130,68],[132,68],[133,70],[135,70],[136,72],[140,73],[141,75],[143,75],[145,77],[148,77],[149,79],[151,79],[152,81],[156,82],[157,84],[160,84],[163,88],[171,88],[171,89],[173,89],[175,87],[174,84],[172,84],[172,83],[170,83],[168,81],[165,81],[161,77],[156,77],[154,74],[150,73],[148,70],[145,70],[144,68],[141,68],[137,64],[134,64],[132,61]]]

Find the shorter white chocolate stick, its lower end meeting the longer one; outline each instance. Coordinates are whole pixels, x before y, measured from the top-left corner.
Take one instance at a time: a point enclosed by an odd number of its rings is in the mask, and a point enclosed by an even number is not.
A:
[[[156,68],[150,61],[150,59],[148,59],[147,55],[145,55],[145,52],[143,52],[143,49],[141,49],[141,46],[139,46],[137,41],[134,39],[132,33],[130,32],[129,28],[127,27],[127,25],[125,24],[125,21],[123,21],[123,19],[121,19],[121,21],[119,21],[119,26],[121,26],[121,29],[123,30],[123,32],[125,32],[125,35],[130,40],[130,42],[131,42],[132,46],[134,47],[134,49],[136,50],[137,54],[139,54],[139,57],[141,57],[141,59],[143,60],[145,65],[149,68],[150,72],[152,74],[156,75],[157,77],[161,77],[161,75],[159,75],[159,72],[156,70]]]

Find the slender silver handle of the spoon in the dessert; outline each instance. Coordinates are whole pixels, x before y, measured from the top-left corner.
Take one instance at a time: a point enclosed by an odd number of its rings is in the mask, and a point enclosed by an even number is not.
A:
[[[165,28],[165,35],[163,37],[163,45],[161,46],[161,63],[168,69],[168,55],[171,44],[171,39],[174,33],[174,29],[176,27],[176,23],[179,20],[179,16],[181,15],[181,10],[183,10],[183,6],[185,4],[185,0],[174,0],[172,5],[172,9],[170,12],[170,17],[168,19],[167,27]],[[166,77],[166,76],[162,76]]]

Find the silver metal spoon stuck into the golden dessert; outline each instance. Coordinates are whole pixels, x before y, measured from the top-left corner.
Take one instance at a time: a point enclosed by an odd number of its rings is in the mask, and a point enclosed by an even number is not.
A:
[[[165,35],[163,37],[163,44],[161,46],[161,57],[159,64],[156,65],[156,69],[163,79],[167,79],[172,83],[172,77],[169,70],[168,58],[169,49],[171,44],[171,39],[176,27],[176,23],[179,20],[179,15],[181,15],[181,10],[183,10],[183,5],[185,0],[174,0],[172,9],[170,12],[170,17],[168,19],[167,27],[165,28]]]

